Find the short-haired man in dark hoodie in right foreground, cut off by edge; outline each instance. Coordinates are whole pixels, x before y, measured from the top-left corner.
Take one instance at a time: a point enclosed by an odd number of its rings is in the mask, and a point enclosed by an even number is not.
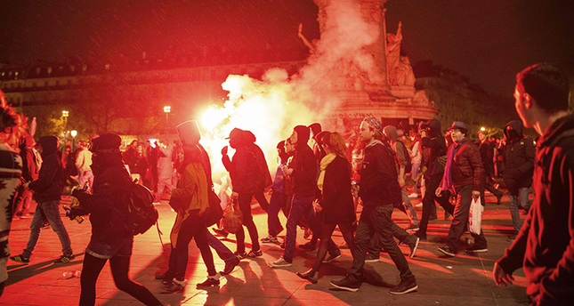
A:
[[[531,305],[574,301],[574,115],[570,81],[561,69],[542,63],[516,76],[514,107],[526,127],[540,135],[534,162],[535,197],[512,246],[492,271],[497,285],[513,283],[521,267]]]

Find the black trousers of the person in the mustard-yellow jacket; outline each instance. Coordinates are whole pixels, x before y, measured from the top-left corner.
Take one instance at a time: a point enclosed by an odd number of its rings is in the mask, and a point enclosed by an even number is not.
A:
[[[214,276],[217,274],[214,266],[214,255],[211,253],[207,243],[206,224],[202,217],[198,216],[197,211],[191,212],[190,216],[182,222],[182,226],[177,235],[175,247],[172,246],[172,253],[169,255],[169,277],[178,280],[185,278],[188,259],[190,254],[190,241],[195,238],[195,243],[201,252],[201,258],[206,264],[207,274]]]

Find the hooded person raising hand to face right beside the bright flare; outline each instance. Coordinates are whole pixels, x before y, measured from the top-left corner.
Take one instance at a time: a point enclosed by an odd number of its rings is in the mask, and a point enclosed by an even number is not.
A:
[[[255,144],[255,135],[249,131],[234,128],[230,132],[230,147],[235,149],[233,160],[227,155],[227,146],[222,149],[222,163],[230,173],[233,192],[231,199],[237,200],[239,209],[243,214],[243,225],[249,232],[252,249],[245,250],[245,231],[241,227],[236,233],[238,249],[236,255],[239,259],[261,256],[263,252],[259,246],[257,227],[251,215],[251,199],[259,202],[264,211],[269,203],[263,195],[263,189],[271,186],[271,174],[263,151]]]

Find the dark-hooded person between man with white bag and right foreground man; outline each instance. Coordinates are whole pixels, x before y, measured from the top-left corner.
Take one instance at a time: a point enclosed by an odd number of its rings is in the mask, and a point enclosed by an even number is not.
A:
[[[514,240],[521,230],[522,221],[518,210],[520,206],[526,212],[530,210],[529,193],[534,173],[534,141],[522,134],[522,123],[513,120],[505,126],[505,145],[503,162],[505,171],[502,178],[508,188],[510,215],[513,217],[514,233],[509,240]]]

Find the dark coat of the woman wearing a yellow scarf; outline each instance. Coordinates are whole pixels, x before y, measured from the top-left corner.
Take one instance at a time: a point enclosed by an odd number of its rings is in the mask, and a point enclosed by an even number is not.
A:
[[[323,181],[323,222],[327,224],[355,221],[355,206],[351,193],[351,164],[336,157],[325,169]]]

